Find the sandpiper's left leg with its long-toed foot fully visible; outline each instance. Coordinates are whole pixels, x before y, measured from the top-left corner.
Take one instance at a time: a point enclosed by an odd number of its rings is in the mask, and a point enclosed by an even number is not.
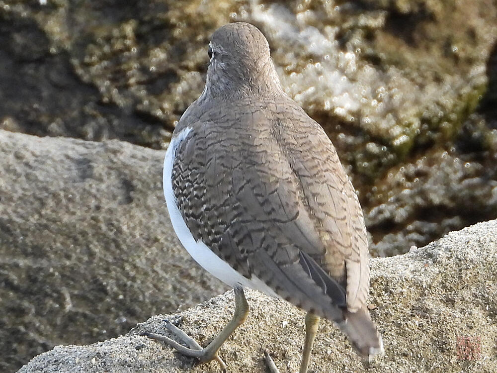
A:
[[[242,287],[235,287],[235,313],[230,322],[224,327],[223,330],[212,340],[211,343],[205,348],[202,348],[193,338],[189,337],[185,332],[181,329],[176,328],[170,322],[166,321],[166,328],[176,337],[178,337],[181,341],[186,343],[190,348],[184,347],[177,343],[176,341],[159,335],[155,333],[143,332],[142,335],[145,335],[149,338],[157,339],[159,341],[163,341],[175,350],[177,350],[180,354],[185,356],[191,356],[193,358],[197,358],[202,363],[209,362],[211,360],[217,360],[219,365],[223,370],[226,370],[226,364],[223,360],[218,356],[219,348],[222,344],[228,339],[228,337],[245,322],[245,319],[248,315],[248,303],[245,298],[244,289]]]

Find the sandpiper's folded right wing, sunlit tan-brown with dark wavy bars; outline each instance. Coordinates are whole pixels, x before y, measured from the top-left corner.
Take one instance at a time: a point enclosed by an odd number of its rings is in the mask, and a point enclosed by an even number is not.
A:
[[[294,120],[279,127],[277,138],[325,246],[320,265],[332,278],[343,276],[347,308],[357,311],[369,292],[368,241],[357,194],[321,126],[297,105],[282,107],[278,117]]]

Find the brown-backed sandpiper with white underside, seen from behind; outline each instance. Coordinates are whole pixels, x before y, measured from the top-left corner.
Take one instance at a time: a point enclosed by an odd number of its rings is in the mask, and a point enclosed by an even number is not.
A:
[[[300,372],[321,317],[366,359],[383,352],[366,305],[369,256],[357,195],[330,139],[282,90],[262,33],[248,23],[214,32],[204,91],[177,123],[164,161],[172,226],[193,259],[235,289],[233,319],[206,347],[171,323],[189,347],[216,359],[248,314],[244,287],[307,311]],[[266,356],[270,369],[277,372]]]

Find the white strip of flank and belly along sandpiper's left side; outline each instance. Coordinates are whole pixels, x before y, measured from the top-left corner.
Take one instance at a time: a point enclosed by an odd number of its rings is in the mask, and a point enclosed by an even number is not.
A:
[[[164,196],[166,197],[167,210],[169,211],[169,217],[171,219],[174,232],[176,232],[179,241],[195,262],[201,265],[214,277],[232,287],[250,287],[252,289],[262,291],[267,295],[278,297],[273,289],[267,286],[263,281],[255,276],[251,279],[245,278],[235,271],[228,263],[214,254],[202,241],[195,241],[193,235],[186,226],[186,223],[181,216],[181,212],[178,209],[176,197],[172,191],[172,165],[174,163],[176,149],[179,147],[181,141],[188,136],[190,131],[191,128],[187,127],[183,129],[178,136],[171,140],[164,159]]]

